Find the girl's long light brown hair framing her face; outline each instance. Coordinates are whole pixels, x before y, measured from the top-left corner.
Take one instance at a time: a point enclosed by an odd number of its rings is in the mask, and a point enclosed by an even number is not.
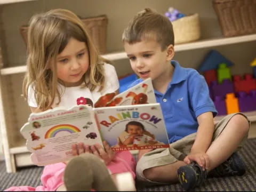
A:
[[[71,37],[85,42],[89,51],[90,66],[83,77],[85,86],[91,91],[99,86],[97,91],[101,91],[105,85],[102,63],[107,60],[100,57],[81,19],[63,9],[36,14],[29,21],[27,73],[22,92],[25,99],[28,99],[28,88],[31,86],[41,110],[51,108],[55,98],[60,102],[62,93],[57,89],[60,81],[56,75],[57,55],[65,49]],[[89,77],[89,81],[86,81],[85,76]]]

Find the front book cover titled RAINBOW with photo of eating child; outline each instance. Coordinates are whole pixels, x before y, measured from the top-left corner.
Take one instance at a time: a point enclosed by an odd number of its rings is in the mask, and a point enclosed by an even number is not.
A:
[[[159,103],[94,108],[100,132],[114,151],[168,148]]]

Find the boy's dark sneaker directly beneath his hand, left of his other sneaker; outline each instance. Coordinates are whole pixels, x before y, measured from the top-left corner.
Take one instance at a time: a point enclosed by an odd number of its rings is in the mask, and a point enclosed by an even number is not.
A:
[[[178,169],[178,179],[185,190],[193,189],[206,179],[207,172],[196,162],[181,166]]]

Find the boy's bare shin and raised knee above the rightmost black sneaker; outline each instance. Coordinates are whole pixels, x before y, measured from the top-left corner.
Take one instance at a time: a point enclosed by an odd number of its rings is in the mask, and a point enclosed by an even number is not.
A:
[[[230,119],[225,129],[216,138],[206,154],[210,159],[210,171],[226,161],[234,153],[239,143],[249,131],[249,122],[242,115],[235,115]]]

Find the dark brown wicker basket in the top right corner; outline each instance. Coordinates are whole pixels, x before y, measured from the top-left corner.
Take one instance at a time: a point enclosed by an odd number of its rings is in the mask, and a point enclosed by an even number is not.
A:
[[[213,0],[213,7],[225,37],[256,32],[255,0]]]

